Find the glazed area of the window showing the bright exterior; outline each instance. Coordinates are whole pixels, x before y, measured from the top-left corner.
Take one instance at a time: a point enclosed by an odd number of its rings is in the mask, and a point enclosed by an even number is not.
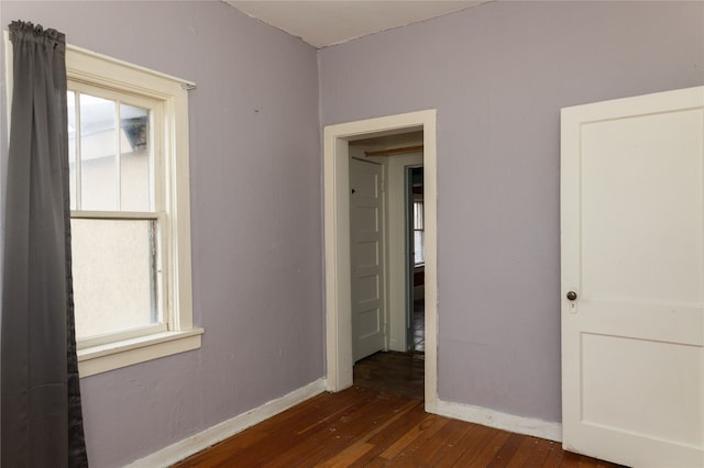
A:
[[[116,98],[114,92],[86,86],[70,88],[77,338],[165,328],[154,171],[161,155],[152,132],[158,125],[155,103],[131,96]]]

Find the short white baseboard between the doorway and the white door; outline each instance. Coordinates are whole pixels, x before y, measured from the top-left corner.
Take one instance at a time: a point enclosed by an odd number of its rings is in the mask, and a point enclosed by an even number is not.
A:
[[[517,434],[562,442],[562,424],[560,423],[516,416],[515,414],[502,413],[501,411],[490,410],[487,408],[452,403],[442,400],[438,400],[435,408],[430,409],[430,411],[441,416],[496,427]]]

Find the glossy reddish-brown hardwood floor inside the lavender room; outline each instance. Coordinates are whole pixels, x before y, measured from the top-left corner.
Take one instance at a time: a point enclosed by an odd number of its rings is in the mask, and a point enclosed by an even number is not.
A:
[[[322,393],[175,465],[186,467],[616,467],[560,444],[451,420],[422,401]]]

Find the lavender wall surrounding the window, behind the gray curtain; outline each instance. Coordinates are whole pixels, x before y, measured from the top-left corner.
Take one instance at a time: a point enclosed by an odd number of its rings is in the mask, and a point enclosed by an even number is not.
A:
[[[202,348],[81,379],[91,466],[122,466],[322,377],[316,51],[219,1],[2,0],[2,27],[15,19],[198,83],[190,175]],[[6,137],[0,148],[4,160]]]

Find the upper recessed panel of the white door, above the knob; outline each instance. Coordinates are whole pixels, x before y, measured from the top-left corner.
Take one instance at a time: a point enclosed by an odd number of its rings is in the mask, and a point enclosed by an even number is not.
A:
[[[582,125],[583,294],[701,302],[701,110]]]

